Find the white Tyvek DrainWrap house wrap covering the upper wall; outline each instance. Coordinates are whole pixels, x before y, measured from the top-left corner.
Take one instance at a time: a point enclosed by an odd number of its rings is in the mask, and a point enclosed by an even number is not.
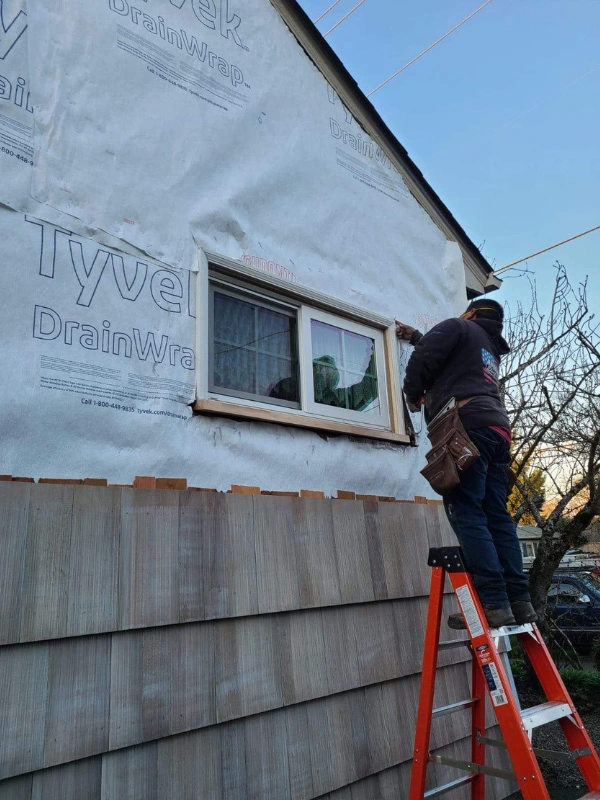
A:
[[[205,252],[422,329],[464,266],[267,0],[143,6],[4,4],[1,471],[431,496],[424,436],[193,416]]]

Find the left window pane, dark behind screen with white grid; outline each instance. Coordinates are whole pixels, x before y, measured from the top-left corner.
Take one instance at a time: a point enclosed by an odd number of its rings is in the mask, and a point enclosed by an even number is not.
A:
[[[213,317],[215,388],[299,402],[295,317],[217,290]]]

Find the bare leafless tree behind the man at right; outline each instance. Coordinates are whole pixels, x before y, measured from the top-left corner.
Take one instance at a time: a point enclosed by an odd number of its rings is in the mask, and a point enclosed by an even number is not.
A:
[[[600,321],[589,310],[586,281],[573,286],[562,265],[543,312],[527,279],[530,302],[505,315],[512,352],[501,388],[522,498],[514,518],[529,513],[542,532],[531,588],[543,610],[562,556],[600,514]],[[534,473],[546,476],[548,509],[530,485]]]

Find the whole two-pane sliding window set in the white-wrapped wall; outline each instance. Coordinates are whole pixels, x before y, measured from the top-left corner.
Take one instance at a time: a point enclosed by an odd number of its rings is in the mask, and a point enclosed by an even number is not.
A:
[[[401,397],[390,322],[265,284],[210,274],[196,410],[409,442],[390,403]]]

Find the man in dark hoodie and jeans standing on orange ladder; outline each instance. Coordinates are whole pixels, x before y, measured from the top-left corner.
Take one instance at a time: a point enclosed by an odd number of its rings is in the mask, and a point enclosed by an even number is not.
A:
[[[504,311],[487,298],[472,301],[460,318],[440,322],[423,335],[396,323],[399,339],[415,345],[404,393],[412,412],[428,423],[454,401],[478,457],[459,483],[443,494],[450,524],[490,627],[535,622],[516,526],[508,510],[511,429],[499,391],[500,358],[510,352],[502,337]],[[468,440],[467,440],[468,441]],[[448,618],[462,629],[461,614]]]

